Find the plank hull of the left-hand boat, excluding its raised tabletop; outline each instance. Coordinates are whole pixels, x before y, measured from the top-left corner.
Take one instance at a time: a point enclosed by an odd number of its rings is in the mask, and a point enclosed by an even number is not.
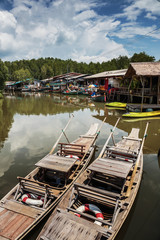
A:
[[[1,221],[0,239],[1,238],[9,239],[9,240],[23,239],[38,223],[42,221],[44,217],[46,217],[56,207],[56,205],[59,203],[62,197],[71,189],[74,182],[78,179],[78,177],[81,175],[81,173],[85,170],[85,168],[88,166],[89,162],[91,161],[95,151],[95,140],[98,136],[96,133],[97,127],[98,127],[98,124],[96,126],[93,125],[92,128],[90,128],[90,130],[88,131],[89,132],[88,134],[90,135],[90,137],[87,137],[88,135],[86,133],[86,135],[80,136],[80,138],[74,141],[74,146],[75,146],[75,142],[79,144],[78,146],[80,146],[80,144],[83,144],[83,146],[86,146],[85,151],[87,155],[84,155],[86,157],[84,159],[82,158],[82,161],[80,161],[79,159],[74,160],[74,162],[76,163],[75,170],[72,170],[73,173],[71,173],[70,175],[70,180],[68,183],[66,183],[66,185],[64,185],[64,187],[55,188],[55,187],[49,186],[46,183],[39,182],[39,180],[36,181],[37,178],[35,179],[35,176],[37,176],[37,174],[39,173],[39,169],[40,169],[39,167],[35,168],[25,178],[18,177],[18,179],[21,179],[22,181],[20,181],[20,183],[17,184],[0,201],[0,213],[1,213],[0,214],[0,221]],[[44,157],[44,159],[45,158],[48,159],[48,156],[50,157],[51,155],[48,154],[46,157]],[[57,155],[55,154],[55,156]],[[77,166],[79,166],[79,168],[77,168]],[[62,168],[64,169],[64,166]],[[21,192],[21,188],[20,188],[21,186],[23,186],[22,189],[25,189],[25,191],[27,192],[29,192],[27,188],[32,189],[34,191],[38,189],[38,191],[40,192],[42,192],[44,188],[48,189],[45,191],[49,191],[49,196],[51,197],[50,198],[51,203],[48,202],[48,205],[46,205],[46,208],[26,205],[25,203],[22,202],[22,194],[24,193]],[[43,189],[41,186],[43,186]],[[31,191],[29,193],[31,193]],[[18,195],[20,196],[18,197]],[[44,201],[45,201],[45,195],[44,195]]]

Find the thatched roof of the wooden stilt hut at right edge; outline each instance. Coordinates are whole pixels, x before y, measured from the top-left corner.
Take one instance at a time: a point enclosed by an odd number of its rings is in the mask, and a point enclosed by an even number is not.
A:
[[[160,76],[160,62],[137,62],[131,63],[125,78],[137,76]]]

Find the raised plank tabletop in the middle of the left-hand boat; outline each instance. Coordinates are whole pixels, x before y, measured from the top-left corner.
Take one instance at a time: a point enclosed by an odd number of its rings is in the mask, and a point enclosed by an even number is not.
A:
[[[56,155],[47,155],[35,165],[37,167],[44,167],[44,168],[52,169],[54,171],[61,171],[61,172],[67,173],[72,168],[72,166],[76,161],[77,160],[74,158],[66,158],[66,157],[61,157]]]

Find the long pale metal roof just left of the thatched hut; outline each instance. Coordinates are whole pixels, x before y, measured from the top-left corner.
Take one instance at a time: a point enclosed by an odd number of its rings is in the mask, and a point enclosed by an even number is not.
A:
[[[113,71],[97,73],[97,74],[87,76],[84,78],[92,79],[92,78],[119,77],[119,76],[124,76],[126,74],[126,72],[127,72],[127,69],[113,70]]]

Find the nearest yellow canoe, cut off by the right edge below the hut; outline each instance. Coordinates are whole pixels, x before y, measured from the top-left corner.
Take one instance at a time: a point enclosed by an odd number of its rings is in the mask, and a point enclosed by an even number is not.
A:
[[[129,112],[124,113],[122,117],[131,117],[131,118],[146,118],[146,117],[155,117],[159,116],[160,111],[152,111],[152,112]]]

